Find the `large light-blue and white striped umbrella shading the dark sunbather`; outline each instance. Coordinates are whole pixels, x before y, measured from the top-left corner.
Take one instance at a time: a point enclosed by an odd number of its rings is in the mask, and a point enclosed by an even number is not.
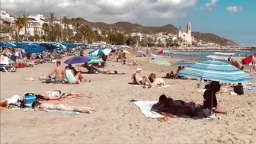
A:
[[[187,66],[178,72],[178,75],[190,78],[203,78],[216,82],[238,83],[253,81],[250,75],[235,66],[214,60],[197,62]]]

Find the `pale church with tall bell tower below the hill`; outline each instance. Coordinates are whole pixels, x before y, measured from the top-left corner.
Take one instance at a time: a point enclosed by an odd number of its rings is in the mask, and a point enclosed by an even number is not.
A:
[[[194,38],[192,37],[191,33],[192,33],[192,29],[191,29],[190,22],[188,22],[187,24],[187,31],[181,30],[181,27],[180,27],[180,29],[178,30],[178,37],[180,39],[181,46],[192,45]]]

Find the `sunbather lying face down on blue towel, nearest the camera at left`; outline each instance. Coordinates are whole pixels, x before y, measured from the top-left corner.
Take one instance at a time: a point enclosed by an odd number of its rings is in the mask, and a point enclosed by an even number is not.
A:
[[[74,107],[68,104],[52,104],[41,101],[34,101],[32,103],[32,108],[35,110],[65,110],[65,111],[77,111],[82,113],[91,114],[91,111],[96,111],[94,108],[89,107]]]

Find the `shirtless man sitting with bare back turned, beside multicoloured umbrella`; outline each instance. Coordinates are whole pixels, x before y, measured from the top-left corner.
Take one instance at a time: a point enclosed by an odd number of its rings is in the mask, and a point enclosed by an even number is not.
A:
[[[54,80],[57,83],[64,82],[63,75],[65,75],[65,72],[64,72],[64,69],[62,67],[60,67],[60,64],[61,64],[60,61],[57,61],[56,68],[54,68],[53,72],[50,72],[50,74],[48,75],[48,77],[50,77],[50,75],[53,75],[53,73],[55,73]]]

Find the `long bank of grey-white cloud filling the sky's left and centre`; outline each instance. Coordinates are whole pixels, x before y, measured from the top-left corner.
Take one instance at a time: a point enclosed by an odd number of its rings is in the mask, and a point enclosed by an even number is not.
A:
[[[44,14],[56,17],[82,17],[88,21],[148,21],[182,18],[185,8],[198,0],[1,0],[2,9],[11,14]]]

